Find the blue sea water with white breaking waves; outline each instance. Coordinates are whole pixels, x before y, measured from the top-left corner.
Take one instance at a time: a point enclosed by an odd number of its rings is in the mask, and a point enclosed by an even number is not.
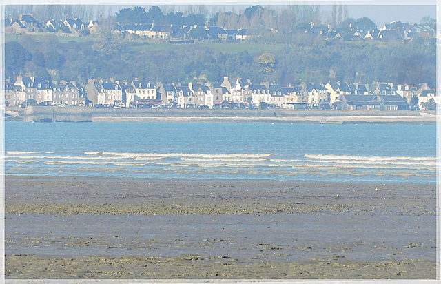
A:
[[[436,182],[436,125],[5,123],[5,173]]]

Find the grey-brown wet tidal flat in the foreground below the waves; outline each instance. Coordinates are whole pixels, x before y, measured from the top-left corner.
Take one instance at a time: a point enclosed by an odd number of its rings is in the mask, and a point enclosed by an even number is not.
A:
[[[435,185],[6,176],[5,196],[7,279],[436,276]]]

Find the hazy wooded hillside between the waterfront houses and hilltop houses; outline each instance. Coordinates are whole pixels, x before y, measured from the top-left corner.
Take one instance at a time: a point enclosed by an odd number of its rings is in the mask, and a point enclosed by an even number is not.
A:
[[[170,45],[143,50],[148,43],[105,37],[60,43],[54,35],[41,41],[22,36],[5,45],[6,78],[18,74],[50,80],[134,78],[161,82],[222,81],[243,77],[256,83],[287,85],[329,80],[349,83],[387,81],[435,85],[435,46],[413,43],[345,43],[314,41],[311,45],[283,45],[265,52],[234,52],[240,43]],[[141,45],[141,50],[136,47]],[[111,46],[111,48],[109,48]],[[264,45],[263,45],[264,46]]]

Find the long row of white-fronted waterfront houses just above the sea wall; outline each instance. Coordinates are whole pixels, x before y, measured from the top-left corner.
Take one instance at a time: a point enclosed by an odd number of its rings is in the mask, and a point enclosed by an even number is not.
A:
[[[252,83],[224,77],[222,82],[152,83],[149,81],[103,81],[89,79],[84,86],[74,81],[46,81],[18,76],[5,82],[8,105],[95,105],[126,108],[336,108],[340,110],[409,110],[418,101],[424,109],[431,99],[439,103],[435,90],[426,83],[301,83],[296,86]],[[416,100],[415,100],[416,99]]]

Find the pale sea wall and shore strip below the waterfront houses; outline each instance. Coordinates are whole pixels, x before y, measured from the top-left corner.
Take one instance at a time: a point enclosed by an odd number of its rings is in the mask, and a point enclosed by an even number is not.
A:
[[[34,106],[8,108],[7,120],[26,122],[285,122],[285,123],[435,123],[435,114],[418,111],[199,110]],[[17,115],[15,115],[17,114]]]

